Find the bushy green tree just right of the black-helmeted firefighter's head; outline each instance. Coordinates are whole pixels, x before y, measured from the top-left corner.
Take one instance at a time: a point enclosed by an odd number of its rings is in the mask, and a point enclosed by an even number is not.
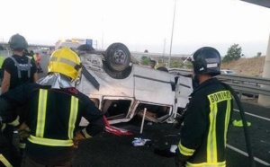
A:
[[[223,57],[222,63],[226,63],[232,60],[238,60],[242,54],[242,48],[238,44],[233,44],[228,48],[227,55]]]

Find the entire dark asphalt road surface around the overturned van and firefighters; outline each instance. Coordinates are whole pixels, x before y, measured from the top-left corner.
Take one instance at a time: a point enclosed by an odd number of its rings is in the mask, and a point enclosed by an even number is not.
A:
[[[49,57],[41,59],[44,73]],[[252,151],[257,167],[270,166],[270,108],[260,107],[255,103],[243,102],[247,121],[251,123],[248,127]],[[233,119],[239,120],[240,115],[235,108]],[[113,136],[103,132],[90,140],[80,143],[74,160],[74,166],[93,167],[169,167],[174,166],[172,157],[155,154],[155,150],[168,151],[170,145],[175,145],[179,140],[179,131],[171,124],[146,124],[142,134],[139,134],[140,119],[132,119],[129,123],[118,124],[130,130],[132,136]],[[131,142],[134,137],[151,139],[146,145],[133,146]],[[164,155],[169,156],[164,152]],[[250,166],[247,158],[247,145],[243,127],[229,127],[227,166],[246,167]]]

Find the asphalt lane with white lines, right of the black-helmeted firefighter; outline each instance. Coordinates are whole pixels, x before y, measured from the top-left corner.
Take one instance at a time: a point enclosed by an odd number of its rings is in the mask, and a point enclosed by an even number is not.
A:
[[[247,121],[251,123],[248,130],[256,164],[257,166],[270,166],[270,109],[250,103],[243,103],[243,108]],[[233,119],[240,120],[238,109],[234,111]],[[233,166],[241,163],[243,166],[248,165],[248,159],[243,155],[247,153],[243,127],[230,126],[228,145],[228,158],[232,164],[235,164]],[[236,153],[240,158],[235,156]]]

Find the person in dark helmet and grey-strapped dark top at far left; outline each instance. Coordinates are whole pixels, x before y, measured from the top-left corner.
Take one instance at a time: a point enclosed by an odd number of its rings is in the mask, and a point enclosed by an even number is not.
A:
[[[13,51],[13,56],[4,59],[2,66],[4,76],[1,93],[13,90],[15,87],[21,84],[34,83],[38,81],[37,69],[34,61],[24,55],[24,50],[28,47],[28,43],[25,38],[20,34],[14,34],[8,43],[9,47]],[[16,112],[20,115],[20,113],[23,113],[23,110],[23,108],[17,108]],[[22,118],[23,117],[21,116],[21,119]],[[6,137],[8,142],[8,145],[6,145],[7,148],[5,149],[6,152],[3,154],[5,158],[9,162],[12,162],[14,166],[21,163],[20,160],[22,159],[22,156],[17,152],[17,149],[13,144],[14,127],[18,125],[19,120],[14,121],[13,125],[6,125],[3,130],[3,135]],[[21,145],[21,147],[23,147],[23,145]],[[0,153],[1,152],[2,151],[0,148]]]

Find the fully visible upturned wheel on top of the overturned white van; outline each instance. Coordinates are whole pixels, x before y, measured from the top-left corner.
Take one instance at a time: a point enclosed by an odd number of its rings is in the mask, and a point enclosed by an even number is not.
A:
[[[130,64],[130,50],[122,43],[112,43],[105,51],[105,61],[114,72],[124,71]]]

